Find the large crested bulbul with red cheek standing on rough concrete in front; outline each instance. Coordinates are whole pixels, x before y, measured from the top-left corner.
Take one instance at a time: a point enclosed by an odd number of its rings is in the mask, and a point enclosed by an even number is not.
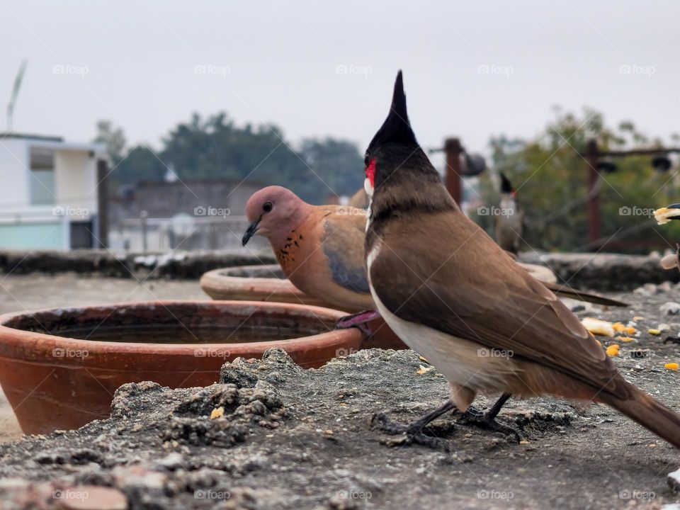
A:
[[[604,402],[680,447],[680,416],[627,382],[579,319],[469,220],[446,191],[409,123],[402,73],[365,154],[371,197],[365,257],[378,312],[448,380],[450,401],[409,426],[416,438],[480,392]]]

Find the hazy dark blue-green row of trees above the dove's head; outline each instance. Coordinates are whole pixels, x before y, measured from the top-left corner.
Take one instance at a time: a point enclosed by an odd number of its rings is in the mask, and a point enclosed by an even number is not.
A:
[[[115,138],[111,123],[103,123],[99,131],[102,140]],[[195,113],[179,123],[164,137],[157,156],[144,146],[123,156],[115,147],[115,183],[160,180],[166,165],[172,164],[183,180],[249,179],[263,186],[285,186],[304,200],[324,203],[329,195],[351,195],[363,180],[361,155],[351,142],[308,139],[298,152],[276,125],[239,127],[223,112],[208,118]]]

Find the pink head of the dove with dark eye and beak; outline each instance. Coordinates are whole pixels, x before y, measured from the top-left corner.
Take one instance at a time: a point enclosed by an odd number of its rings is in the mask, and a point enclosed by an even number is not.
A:
[[[243,234],[243,245],[260,234],[278,245],[296,229],[310,212],[310,205],[286,188],[268,186],[256,191],[246,203],[250,226]]]

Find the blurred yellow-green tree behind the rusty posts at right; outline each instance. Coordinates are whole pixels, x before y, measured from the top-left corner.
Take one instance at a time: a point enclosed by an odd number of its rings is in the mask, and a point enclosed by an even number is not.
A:
[[[589,108],[584,108],[581,115],[556,109],[555,120],[533,140],[492,138],[492,166],[494,171],[509,176],[517,190],[527,217],[523,237],[530,248],[591,248],[587,246],[587,163],[579,156],[590,139],[597,140],[601,150],[660,145],[659,140],[650,140],[639,132],[632,122],[608,128],[603,116]],[[613,162],[617,170],[611,174],[600,171],[599,179],[604,250],[648,251],[650,242],[666,248],[661,234],[677,237],[680,228],[664,225],[657,230],[652,217],[638,213],[676,201],[679,190],[673,170],[669,174],[655,171],[647,156],[616,158]],[[480,190],[486,203],[498,202],[498,191],[488,174],[482,177]],[[487,218],[477,220],[483,220],[482,225],[491,229]]]

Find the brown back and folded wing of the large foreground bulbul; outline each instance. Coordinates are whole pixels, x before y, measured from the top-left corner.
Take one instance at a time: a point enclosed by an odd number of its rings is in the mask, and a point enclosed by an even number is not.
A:
[[[370,281],[397,317],[628,396],[579,319],[461,212],[404,215],[378,235]]]

